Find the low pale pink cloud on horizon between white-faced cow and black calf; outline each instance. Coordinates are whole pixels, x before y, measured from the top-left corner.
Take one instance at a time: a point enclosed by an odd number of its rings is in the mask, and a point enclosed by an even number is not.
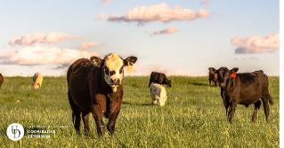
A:
[[[126,68],[126,67],[125,67]],[[144,66],[142,64],[134,64],[134,72],[127,73],[125,69],[125,75],[150,75],[151,72],[164,73],[166,75],[206,75],[207,72],[190,72],[184,68],[163,68],[157,64],[151,64]]]

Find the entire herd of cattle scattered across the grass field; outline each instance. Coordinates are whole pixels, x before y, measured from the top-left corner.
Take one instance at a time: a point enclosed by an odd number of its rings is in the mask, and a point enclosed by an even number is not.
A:
[[[120,112],[123,98],[124,66],[133,68],[136,57],[121,58],[115,53],[110,53],[104,58],[91,57],[77,59],[67,72],[69,105],[72,109],[72,121],[77,134],[80,134],[81,113],[85,124],[85,133],[90,134],[89,115],[97,127],[99,136],[104,136],[106,131],[103,117],[109,119],[107,129],[112,135]],[[127,67],[127,70],[128,70]],[[256,121],[256,114],[260,108],[262,99],[266,121],[269,122],[269,103],[272,105],[272,97],[268,91],[268,77],[262,70],[252,73],[236,74],[239,68],[229,70],[227,67],[215,69],[209,67],[209,85],[221,88],[221,97],[226,109],[227,119],[232,122],[237,105],[255,105],[252,121]],[[4,77],[0,74],[0,87]],[[33,77],[35,89],[40,89],[43,75],[36,73]],[[150,84],[154,82],[152,86]],[[172,82],[165,74],[152,72],[150,74],[150,96],[152,104],[160,106],[166,103],[166,89],[161,85],[172,87]]]

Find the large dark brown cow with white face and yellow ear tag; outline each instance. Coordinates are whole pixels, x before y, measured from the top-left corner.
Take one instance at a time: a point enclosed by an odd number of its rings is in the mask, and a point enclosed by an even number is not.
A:
[[[124,66],[133,66],[136,57],[120,58],[110,53],[101,59],[94,57],[100,64],[96,66],[87,58],[77,59],[67,72],[69,105],[72,109],[72,121],[80,135],[81,113],[85,124],[85,134],[91,134],[89,114],[97,127],[97,134],[104,136],[106,128],[103,116],[109,119],[107,129],[112,136],[120,112],[124,76]]]

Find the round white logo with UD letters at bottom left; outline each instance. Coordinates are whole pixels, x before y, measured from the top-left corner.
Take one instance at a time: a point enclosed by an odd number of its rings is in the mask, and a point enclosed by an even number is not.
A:
[[[7,136],[12,141],[18,141],[25,135],[25,130],[19,123],[12,123],[7,129]]]

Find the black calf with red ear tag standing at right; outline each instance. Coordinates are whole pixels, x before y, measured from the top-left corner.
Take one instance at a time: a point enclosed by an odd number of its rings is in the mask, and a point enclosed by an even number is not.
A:
[[[221,88],[221,97],[223,105],[226,108],[226,116],[231,123],[236,111],[237,105],[254,104],[255,111],[252,116],[252,121],[256,121],[257,111],[260,108],[261,101],[264,103],[264,113],[266,121],[269,122],[269,105],[273,104],[272,97],[268,91],[268,77],[264,71],[259,70],[252,73],[240,73],[238,67],[229,70],[227,67],[215,68],[213,72],[218,74],[219,87]]]

